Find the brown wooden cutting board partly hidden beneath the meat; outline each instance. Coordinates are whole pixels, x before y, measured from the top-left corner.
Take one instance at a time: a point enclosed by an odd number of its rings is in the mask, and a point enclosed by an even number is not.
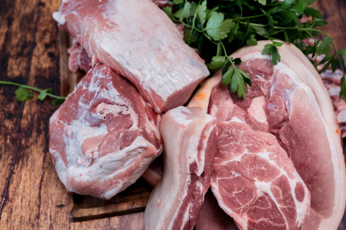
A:
[[[77,73],[69,71],[67,50],[71,44],[72,37],[59,30],[60,84],[63,95],[73,91],[74,86],[85,74],[82,71]],[[135,184],[109,201],[91,196],[68,194],[69,218],[73,221],[86,221],[141,212],[145,209],[150,191],[151,187],[144,180],[138,179]]]

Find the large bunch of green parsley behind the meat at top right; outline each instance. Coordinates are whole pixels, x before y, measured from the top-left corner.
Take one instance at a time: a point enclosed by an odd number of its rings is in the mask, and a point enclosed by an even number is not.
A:
[[[318,29],[327,22],[315,7],[309,6],[314,1],[173,0],[173,10],[171,7],[163,10],[173,22],[185,25],[185,42],[199,49],[210,72],[223,68],[223,84],[229,85],[232,92],[238,92],[239,97],[246,97],[251,80],[237,67],[241,60],[229,54],[243,45],[257,45],[258,40],[268,39],[272,44],[267,44],[262,54],[271,55],[273,64],[280,61],[277,47],[283,43],[277,40],[282,40],[295,44],[305,55],[311,55],[315,68],[317,64],[325,64],[319,72],[330,66],[335,71],[339,65],[344,73],[340,96],[346,100],[346,47],[337,50],[333,39]],[[308,17],[306,22],[300,21],[303,16]],[[302,41],[308,38],[314,40],[313,46]],[[316,63],[319,55],[324,58]]]

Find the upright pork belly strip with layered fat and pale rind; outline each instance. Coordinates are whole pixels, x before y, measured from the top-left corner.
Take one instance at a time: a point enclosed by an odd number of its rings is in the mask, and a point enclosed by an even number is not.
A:
[[[146,230],[193,229],[210,185],[215,125],[201,108],[177,107],[162,117],[164,171],[145,208]]]

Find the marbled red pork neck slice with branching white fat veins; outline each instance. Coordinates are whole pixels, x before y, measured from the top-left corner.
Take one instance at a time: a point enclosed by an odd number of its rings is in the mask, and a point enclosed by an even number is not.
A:
[[[218,124],[211,187],[242,230],[300,229],[310,193],[274,135],[236,117]]]

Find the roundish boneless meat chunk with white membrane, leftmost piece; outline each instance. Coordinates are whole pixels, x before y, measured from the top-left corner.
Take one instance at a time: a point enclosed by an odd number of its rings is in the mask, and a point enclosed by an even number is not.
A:
[[[162,152],[160,115],[134,86],[97,64],[51,116],[49,151],[69,192],[110,199]]]

